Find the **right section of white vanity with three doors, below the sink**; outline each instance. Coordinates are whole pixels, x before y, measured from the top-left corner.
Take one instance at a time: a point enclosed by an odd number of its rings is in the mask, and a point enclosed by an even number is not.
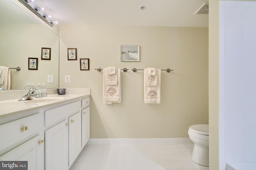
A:
[[[45,126],[46,129],[50,127],[45,131],[46,170],[68,170],[84,147],[84,127],[87,128],[87,138],[90,136],[90,112],[86,111],[89,113],[86,114],[86,122],[81,114],[83,100],[87,101],[88,108],[90,99],[86,98],[45,111]],[[60,120],[62,122],[59,123]]]

